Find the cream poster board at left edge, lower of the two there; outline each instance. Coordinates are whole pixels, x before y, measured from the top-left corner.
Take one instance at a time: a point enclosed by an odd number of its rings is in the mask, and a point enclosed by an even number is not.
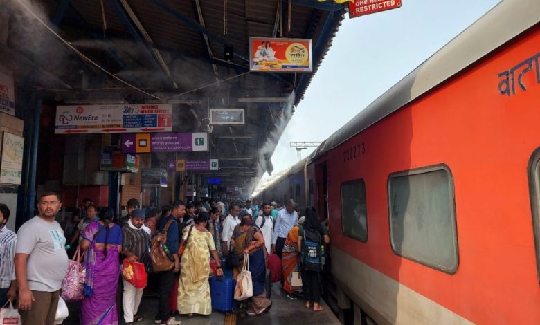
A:
[[[24,138],[3,132],[0,183],[21,185]]]

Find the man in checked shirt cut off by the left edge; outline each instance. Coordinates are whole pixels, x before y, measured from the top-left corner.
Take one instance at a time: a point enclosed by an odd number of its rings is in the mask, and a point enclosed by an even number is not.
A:
[[[14,300],[17,295],[17,281],[15,280],[15,246],[17,234],[6,226],[10,219],[10,210],[7,205],[0,203],[0,306],[6,304],[8,299]]]

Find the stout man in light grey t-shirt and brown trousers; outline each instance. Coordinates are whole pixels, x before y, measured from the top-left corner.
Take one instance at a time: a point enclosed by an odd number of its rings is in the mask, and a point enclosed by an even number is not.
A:
[[[62,279],[68,268],[66,238],[55,221],[61,206],[58,194],[42,194],[37,203],[39,214],[17,232],[15,275],[22,325],[55,321]]]

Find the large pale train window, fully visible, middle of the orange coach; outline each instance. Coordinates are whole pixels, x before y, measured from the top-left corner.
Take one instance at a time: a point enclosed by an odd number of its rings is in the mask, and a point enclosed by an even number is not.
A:
[[[456,272],[456,206],[453,178],[446,165],[390,174],[388,209],[395,254],[443,272]]]

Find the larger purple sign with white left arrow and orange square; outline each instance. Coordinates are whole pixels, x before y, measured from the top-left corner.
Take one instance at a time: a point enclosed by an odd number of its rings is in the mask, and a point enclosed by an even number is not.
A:
[[[208,133],[129,133],[121,143],[125,153],[207,151]]]

